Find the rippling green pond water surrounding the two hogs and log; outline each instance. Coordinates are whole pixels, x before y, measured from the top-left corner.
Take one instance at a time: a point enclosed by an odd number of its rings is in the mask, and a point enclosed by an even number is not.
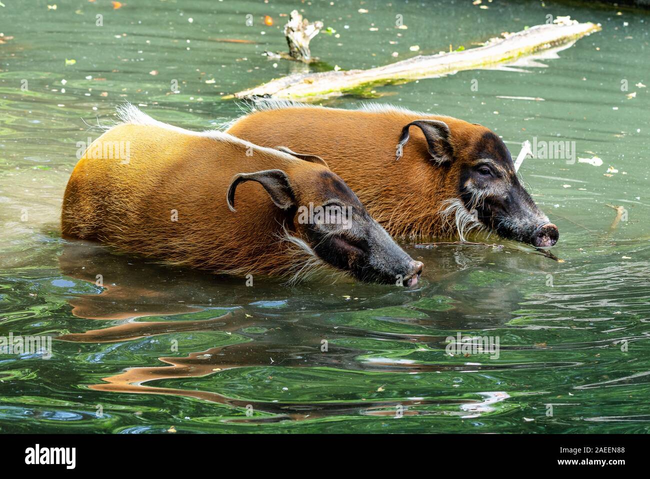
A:
[[[650,431],[650,102],[636,86],[650,85],[647,12],[550,1],[4,3],[0,335],[54,339],[51,359],[0,355],[0,431]],[[404,59],[414,45],[471,48],[547,14],[602,23],[543,66],[376,89],[378,102],[489,126],[513,154],[537,137],[601,157],[600,167],[528,159],[521,169],[560,228],[552,251],[564,262],[513,243],[407,241],[425,264],[415,290],[265,279],[247,288],[60,238],[77,142],[99,135],[82,119],[108,120],[124,100],[196,130],[235,118],[221,94],[303,68],[261,56],[285,49],[279,14],[296,5],[340,35],[320,34],[312,49],[341,68],[385,64],[394,51]],[[396,14],[408,29],[393,27]],[[625,208],[613,228],[607,205]],[[498,358],[448,355],[457,333],[498,338]]]

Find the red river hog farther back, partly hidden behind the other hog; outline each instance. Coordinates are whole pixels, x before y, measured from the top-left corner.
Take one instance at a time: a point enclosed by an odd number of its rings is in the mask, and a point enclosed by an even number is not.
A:
[[[479,124],[390,105],[346,110],[260,99],[227,133],[323,157],[395,236],[465,239],[485,230],[537,247],[558,240],[506,145]]]

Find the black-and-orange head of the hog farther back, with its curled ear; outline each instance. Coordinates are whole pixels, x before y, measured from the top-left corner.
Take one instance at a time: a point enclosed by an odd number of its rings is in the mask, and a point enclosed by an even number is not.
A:
[[[439,213],[448,224],[456,223],[461,239],[465,232],[480,227],[538,247],[554,245],[558,228],[519,182],[506,145],[484,126],[463,124],[456,124],[454,131],[439,119],[422,118],[404,125],[396,160],[402,157],[411,127],[419,128],[439,174],[450,182],[458,178],[458,191],[450,183],[450,198],[444,200]]]

